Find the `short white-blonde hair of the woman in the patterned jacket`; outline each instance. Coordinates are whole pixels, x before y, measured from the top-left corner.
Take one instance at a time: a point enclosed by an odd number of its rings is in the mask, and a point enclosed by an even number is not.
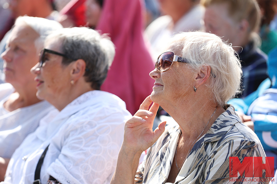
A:
[[[203,66],[211,67],[210,83],[214,102],[220,106],[240,93],[241,64],[234,49],[221,38],[211,33],[180,33],[173,37],[170,49],[180,50],[189,61],[192,70]],[[191,86],[193,89],[193,86]]]

